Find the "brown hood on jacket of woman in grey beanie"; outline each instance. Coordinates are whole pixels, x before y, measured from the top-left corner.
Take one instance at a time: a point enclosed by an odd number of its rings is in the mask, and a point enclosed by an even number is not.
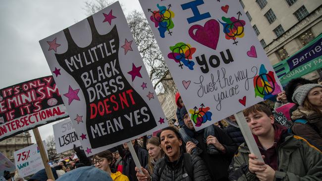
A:
[[[302,106],[299,106],[292,112],[292,120],[306,119],[309,123],[317,123],[322,120],[322,116],[313,110],[308,110]]]

